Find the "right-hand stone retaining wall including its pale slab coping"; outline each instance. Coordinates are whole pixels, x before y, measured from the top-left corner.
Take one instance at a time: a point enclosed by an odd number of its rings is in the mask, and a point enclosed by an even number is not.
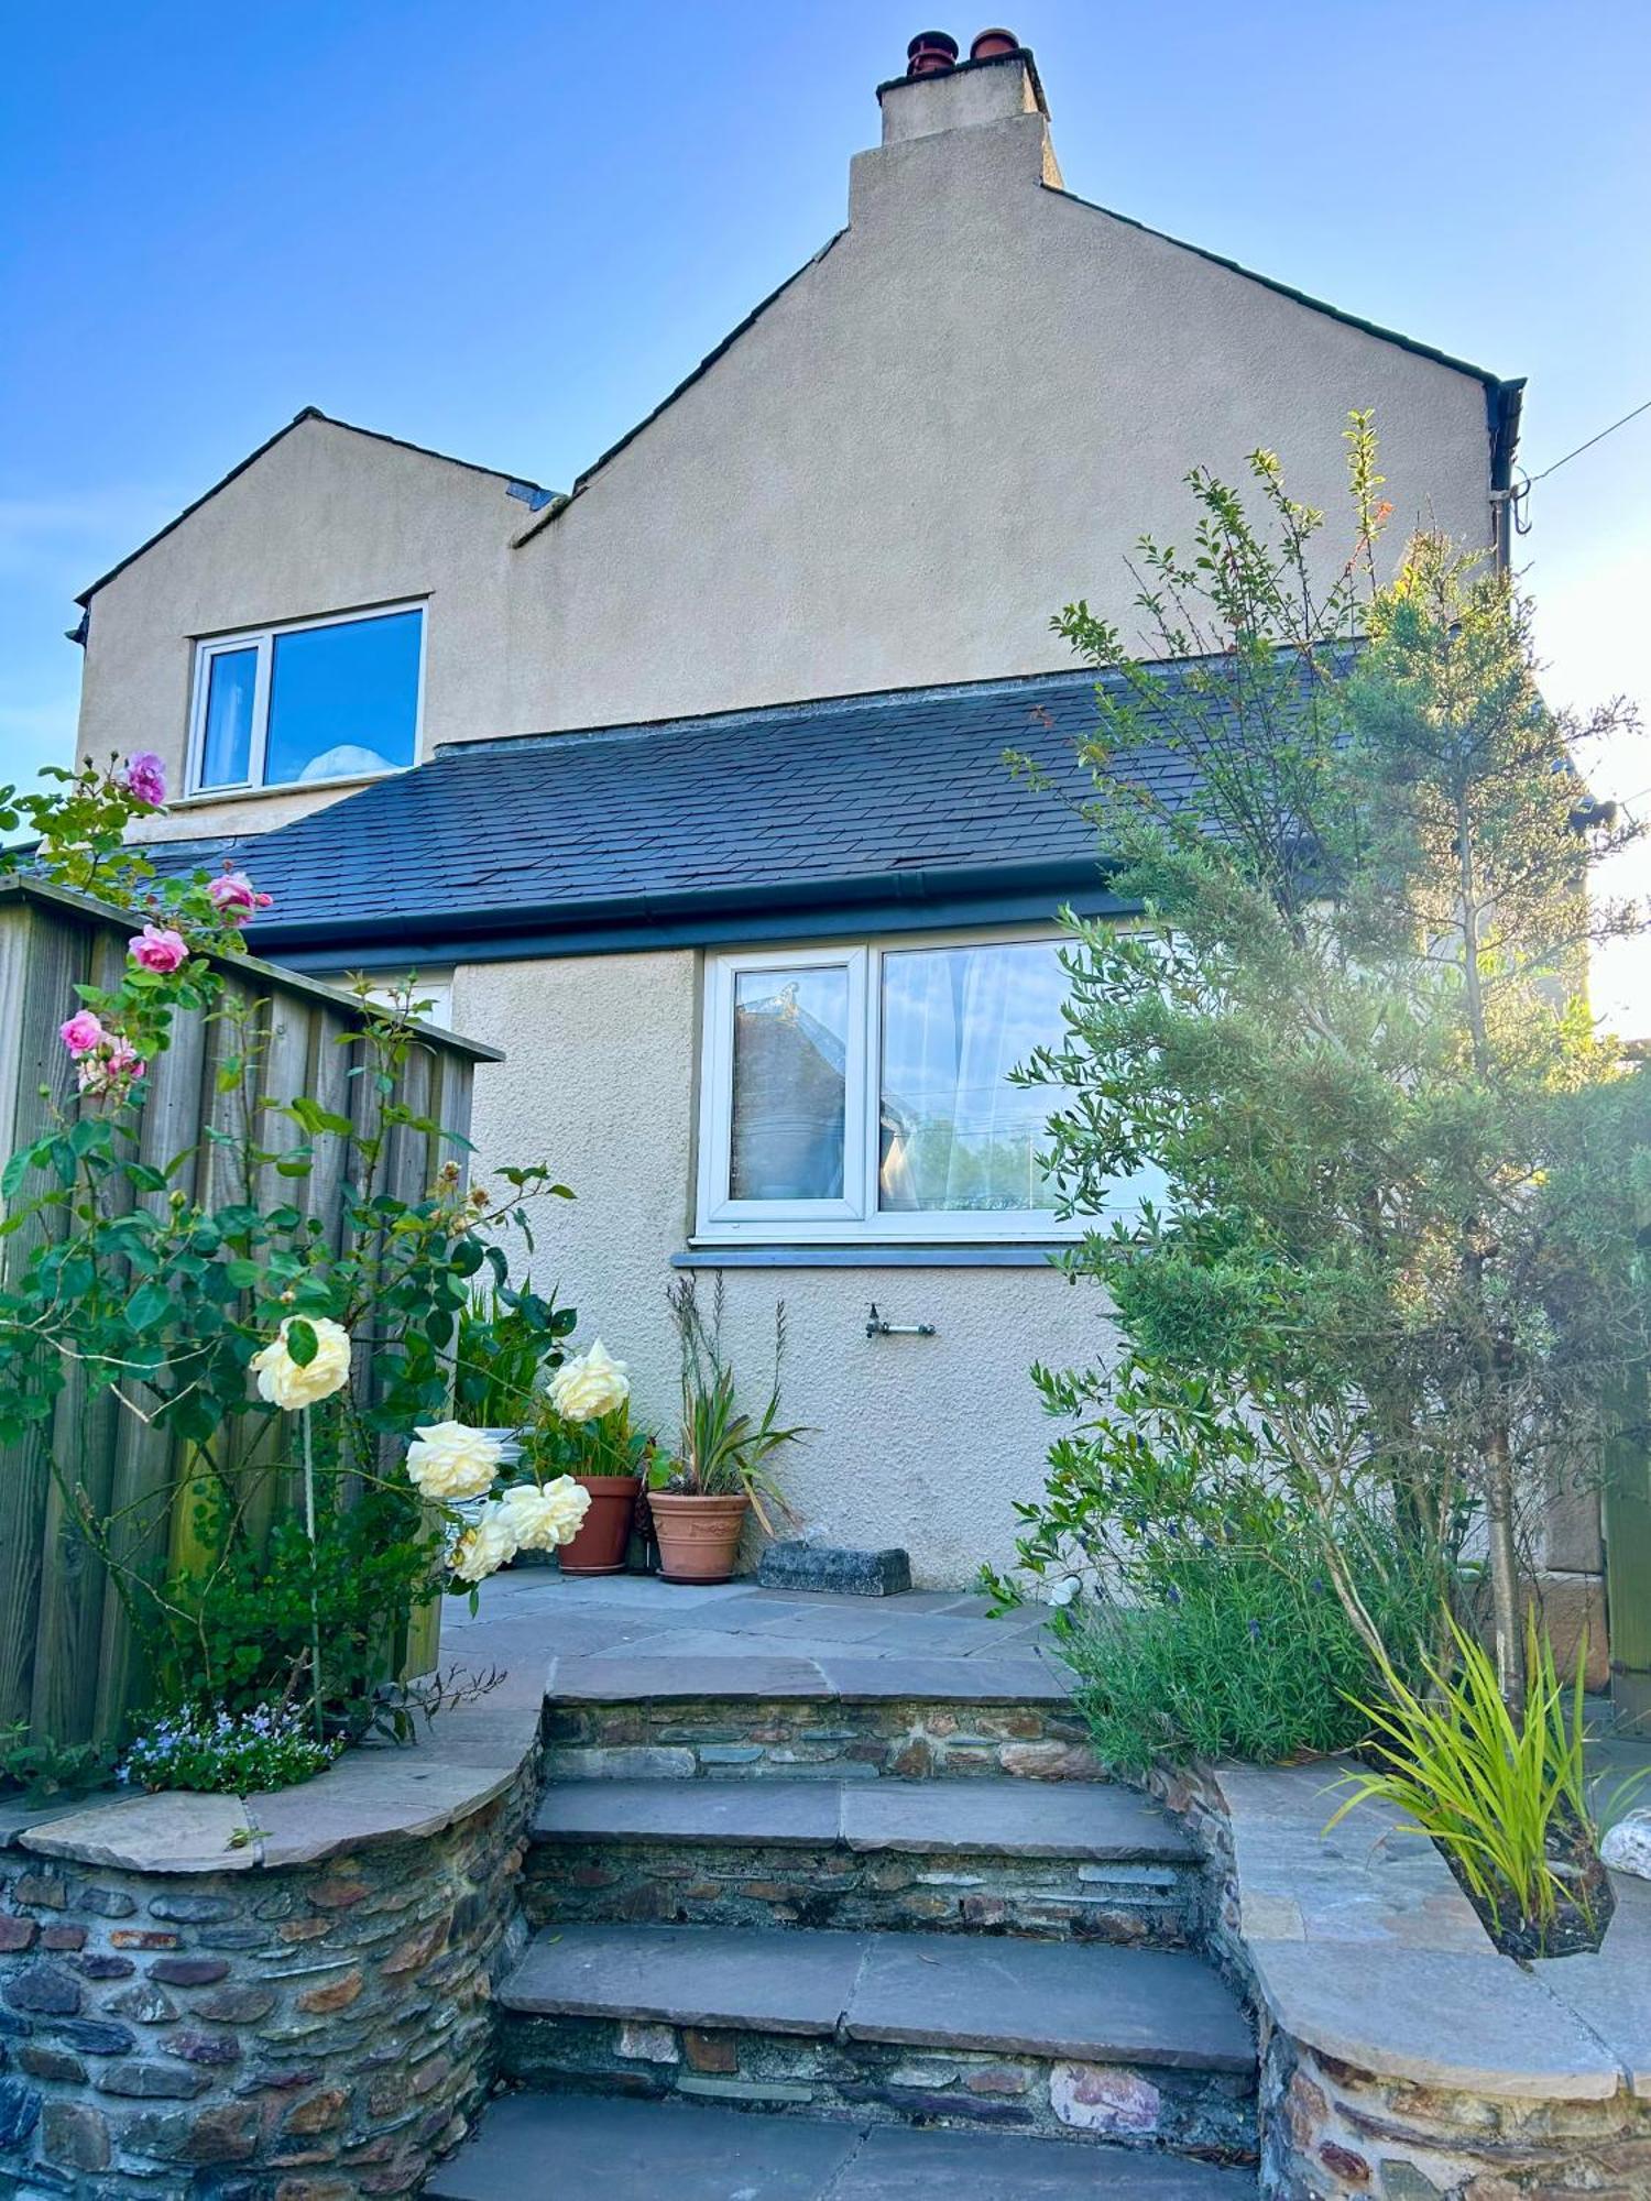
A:
[[[1448,1866],[1336,1763],[1162,1770],[1209,1952],[1257,2012],[1266,2201],[1651,2197],[1651,1886],[1594,1957],[1499,1957]]]

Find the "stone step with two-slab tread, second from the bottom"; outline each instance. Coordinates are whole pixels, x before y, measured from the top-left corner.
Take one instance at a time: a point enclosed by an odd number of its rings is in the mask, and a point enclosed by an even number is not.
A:
[[[867,2124],[1255,2153],[1255,2047],[1178,1950],[564,1926],[500,1990],[509,2076]]]

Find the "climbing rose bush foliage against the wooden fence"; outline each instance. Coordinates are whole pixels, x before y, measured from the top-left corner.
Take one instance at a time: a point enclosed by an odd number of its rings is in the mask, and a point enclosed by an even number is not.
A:
[[[275,1008],[229,988],[220,962],[266,896],[233,872],[156,878],[121,843],[161,799],[156,759],[48,777],[66,792],[0,795],[0,825],[26,819],[40,834],[7,861],[147,922],[119,986],[79,988],[99,1039],[81,1017],[64,1026],[79,1105],[0,1173],[0,1235],[13,1239],[0,1446],[44,1453],[66,1521],[147,1646],[161,1704],[240,1712],[308,1688],[330,1732],[361,1732],[409,1613],[449,1583],[451,1538],[405,1477],[407,1437],[449,1409],[480,1274],[495,1285],[486,1336],[564,1334],[572,1316],[511,1288],[500,1239],[531,1246],[526,1202],[570,1195],[539,1167],[464,1189],[456,1158],[416,1195],[396,1189],[398,1153],[451,1140],[403,1098],[425,1045],[412,988],[383,1006],[357,984],[343,1109],[271,1094]],[[150,1160],[147,1059],[178,1008],[209,1023],[216,1092],[189,1145]],[[310,1178],[328,1186],[317,1213]],[[321,1329],[337,1347],[326,1382]],[[295,1400],[277,1402],[269,1384],[277,1336],[288,1384],[317,1369],[302,1411],[282,1411]],[[114,1505],[84,1477],[97,1455],[88,1431],[110,1413],[130,1422],[145,1461],[165,1464]]]

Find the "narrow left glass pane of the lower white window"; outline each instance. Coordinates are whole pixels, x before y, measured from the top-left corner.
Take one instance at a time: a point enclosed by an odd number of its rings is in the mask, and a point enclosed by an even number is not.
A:
[[[733,982],[733,1200],[841,1200],[848,971]]]

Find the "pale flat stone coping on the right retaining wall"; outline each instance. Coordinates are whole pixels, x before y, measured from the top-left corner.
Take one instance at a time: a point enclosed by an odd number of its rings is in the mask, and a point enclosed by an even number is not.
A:
[[[1517,1963],[1415,1827],[1360,1805],[1347,1759],[1217,1765],[1237,1930],[1275,2025],[1382,2080],[1508,2102],[1651,2100],[1651,1882],[1616,1880],[1598,1954]]]

